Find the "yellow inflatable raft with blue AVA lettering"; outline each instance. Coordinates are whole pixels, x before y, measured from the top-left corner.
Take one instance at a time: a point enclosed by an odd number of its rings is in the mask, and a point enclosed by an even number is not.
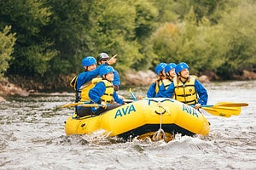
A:
[[[122,105],[100,116],[68,117],[67,135],[90,134],[104,130],[109,136],[171,140],[172,135],[207,135],[209,122],[189,105],[174,99],[152,98]]]

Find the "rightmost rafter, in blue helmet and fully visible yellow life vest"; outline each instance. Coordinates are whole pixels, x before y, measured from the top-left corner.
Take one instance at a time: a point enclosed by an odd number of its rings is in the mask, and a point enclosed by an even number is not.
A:
[[[189,76],[189,65],[182,62],[175,67],[177,80],[166,89],[165,97],[177,99],[187,105],[195,105],[199,109],[201,105],[207,105],[207,89],[203,87],[195,76]]]

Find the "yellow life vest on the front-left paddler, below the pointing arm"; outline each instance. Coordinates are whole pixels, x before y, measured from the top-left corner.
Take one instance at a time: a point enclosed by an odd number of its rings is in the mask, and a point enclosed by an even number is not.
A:
[[[102,78],[93,78],[90,82],[84,83],[81,88],[79,88],[79,101],[90,101],[89,91],[94,88],[97,82],[101,82]]]

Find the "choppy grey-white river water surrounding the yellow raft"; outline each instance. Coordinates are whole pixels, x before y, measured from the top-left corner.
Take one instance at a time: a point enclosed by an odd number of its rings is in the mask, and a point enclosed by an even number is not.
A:
[[[177,135],[166,143],[119,142],[99,134],[66,136],[64,122],[73,94],[34,94],[0,103],[0,169],[255,169],[256,81],[204,84],[208,105],[220,101],[249,104],[239,116],[204,115],[207,137]],[[145,96],[147,88],[132,88]],[[128,89],[119,94],[130,97]]]

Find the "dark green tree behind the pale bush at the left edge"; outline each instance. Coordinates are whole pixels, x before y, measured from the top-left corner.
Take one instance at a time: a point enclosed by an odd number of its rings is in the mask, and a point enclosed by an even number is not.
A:
[[[16,33],[14,59],[9,73],[26,76],[44,76],[49,60],[56,54],[53,42],[41,33],[50,16],[42,1],[3,0],[0,2],[1,27],[12,26]]]

